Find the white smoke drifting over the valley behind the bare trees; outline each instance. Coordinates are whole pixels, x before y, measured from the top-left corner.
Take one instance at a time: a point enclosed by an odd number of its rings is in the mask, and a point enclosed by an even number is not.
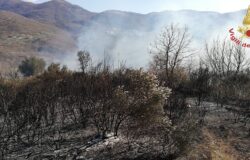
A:
[[[218,36],[229,37],[228,30],[232,27],[237,29],[244,15],[245,11],[221,14],[183,10],[146,15],[104,12],[83,27],[78,45],[80,50],[91,53],[94,62],[109,55],[114,66],[126,62],[129,67],[147,67],[151,59],[149,45],[164,26],[171,23],[187,26],[193,36],[197,56],[201,56],[205,42]],[[71,68],[77,68],[76,57],[67,57],[65,62]]]

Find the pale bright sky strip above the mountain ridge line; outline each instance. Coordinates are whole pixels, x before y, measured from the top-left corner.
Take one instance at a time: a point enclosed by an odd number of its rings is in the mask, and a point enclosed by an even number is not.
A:
[[[25,0],[44,2],[48,0]],[[123,10],[138,13],[149,13],[163,10],[192,9],[199,11],[232,12],[245,9],[250,0],[67,0],[83,8],[101,12],[104,10]]]

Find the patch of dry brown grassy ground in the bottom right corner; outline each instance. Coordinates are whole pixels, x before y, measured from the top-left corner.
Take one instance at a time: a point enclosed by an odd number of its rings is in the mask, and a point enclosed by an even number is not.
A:
[[[213,103],[208,107],[202,140],[190,147],[185,159],[188,160],[250,160],[250,139],[247,127],[231,121],[232,114],[226,109],[216,108]]]

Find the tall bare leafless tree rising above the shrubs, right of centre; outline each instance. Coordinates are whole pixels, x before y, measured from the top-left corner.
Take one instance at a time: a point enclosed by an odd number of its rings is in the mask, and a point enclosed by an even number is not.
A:
[[[153,61],[152,69],[157,73],[161,82],[174,89],[177,87],[176,75],[181,70],[181,63],[190,56],[191,36],[188,29],[171,24],[166,26],[158,39],[151,46]]]

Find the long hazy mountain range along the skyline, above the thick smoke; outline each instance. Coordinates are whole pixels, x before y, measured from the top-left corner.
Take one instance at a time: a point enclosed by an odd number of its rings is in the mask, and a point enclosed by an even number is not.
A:
[[[240,23],[245,11],[220,14],[193,10],[164,11],[149,14],[138,14],[123,11],[104,11],[93,13],[65,0],[51,0],[41,4],[21,0],[0,0],[0,9],[21,14],[27,18],[49,23],[70,31],[74,37],[85,29],[102,27],[106,30],[122,31],[159,31],[169,23],[187,25],[197,38],[207,37],[218,28],[227,27],[231,22]],[[234,23],[234,24],[236,24]],[[209,32],[207,31],[209,30]],[[206,32],[204,32],[206,31]]]

